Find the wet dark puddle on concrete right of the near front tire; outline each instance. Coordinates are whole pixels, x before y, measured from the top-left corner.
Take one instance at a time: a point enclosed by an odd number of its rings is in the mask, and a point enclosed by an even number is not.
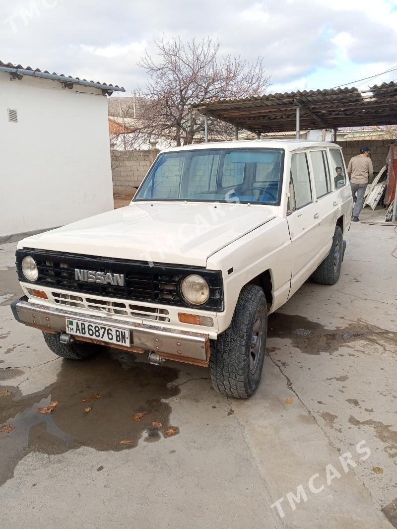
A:
[[[277,312],[269,316],[268,338],[289,338],[294,347],[306,354],[333,354],[340,346],[358,340],[379,345],[384,351],[387,346],[395,348],[397,344],[397,332],[385,331],[367,323],[358,321],[342,329],[331,330],[298,314]],[[365,350],[363,352],[366,353]]]

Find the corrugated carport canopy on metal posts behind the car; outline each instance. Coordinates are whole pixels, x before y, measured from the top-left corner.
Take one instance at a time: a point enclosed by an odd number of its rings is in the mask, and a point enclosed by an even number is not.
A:
[[[257,134],[300,129],[333,129],[397,124],[397,83],[383,83],[365,90],[336,88],[267,94],[240,99],[201,101],[192,105],[238,129]]]

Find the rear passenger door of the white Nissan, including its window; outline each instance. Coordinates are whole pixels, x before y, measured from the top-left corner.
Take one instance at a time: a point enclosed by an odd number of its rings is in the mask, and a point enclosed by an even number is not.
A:
[[[331,248],[336,221],[338,219],[338,199],[332,190],[327,149],[310,150],[311,169],[315,192],[315,203],[319,213],[319,263]]]

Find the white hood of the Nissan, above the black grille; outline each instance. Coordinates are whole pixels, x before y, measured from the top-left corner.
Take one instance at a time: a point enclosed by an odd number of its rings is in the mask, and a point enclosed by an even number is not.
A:
[[[207,258],[269,222],[276,206],[132,202],[23,239],[18,248],[37,248],[205,267]]]

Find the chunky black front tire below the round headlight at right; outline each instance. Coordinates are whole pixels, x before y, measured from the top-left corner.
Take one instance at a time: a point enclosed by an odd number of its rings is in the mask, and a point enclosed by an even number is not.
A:
[[[258,315],[258,316],[257,316]],[[254,323],[260,317],[261,340],[255,372],[251,372]],[[214,389],[235,398],[249,398],[259,386],[266,351],[267,304],[256,285],[241,290],[230,326],[211,349],[210,370]]]

